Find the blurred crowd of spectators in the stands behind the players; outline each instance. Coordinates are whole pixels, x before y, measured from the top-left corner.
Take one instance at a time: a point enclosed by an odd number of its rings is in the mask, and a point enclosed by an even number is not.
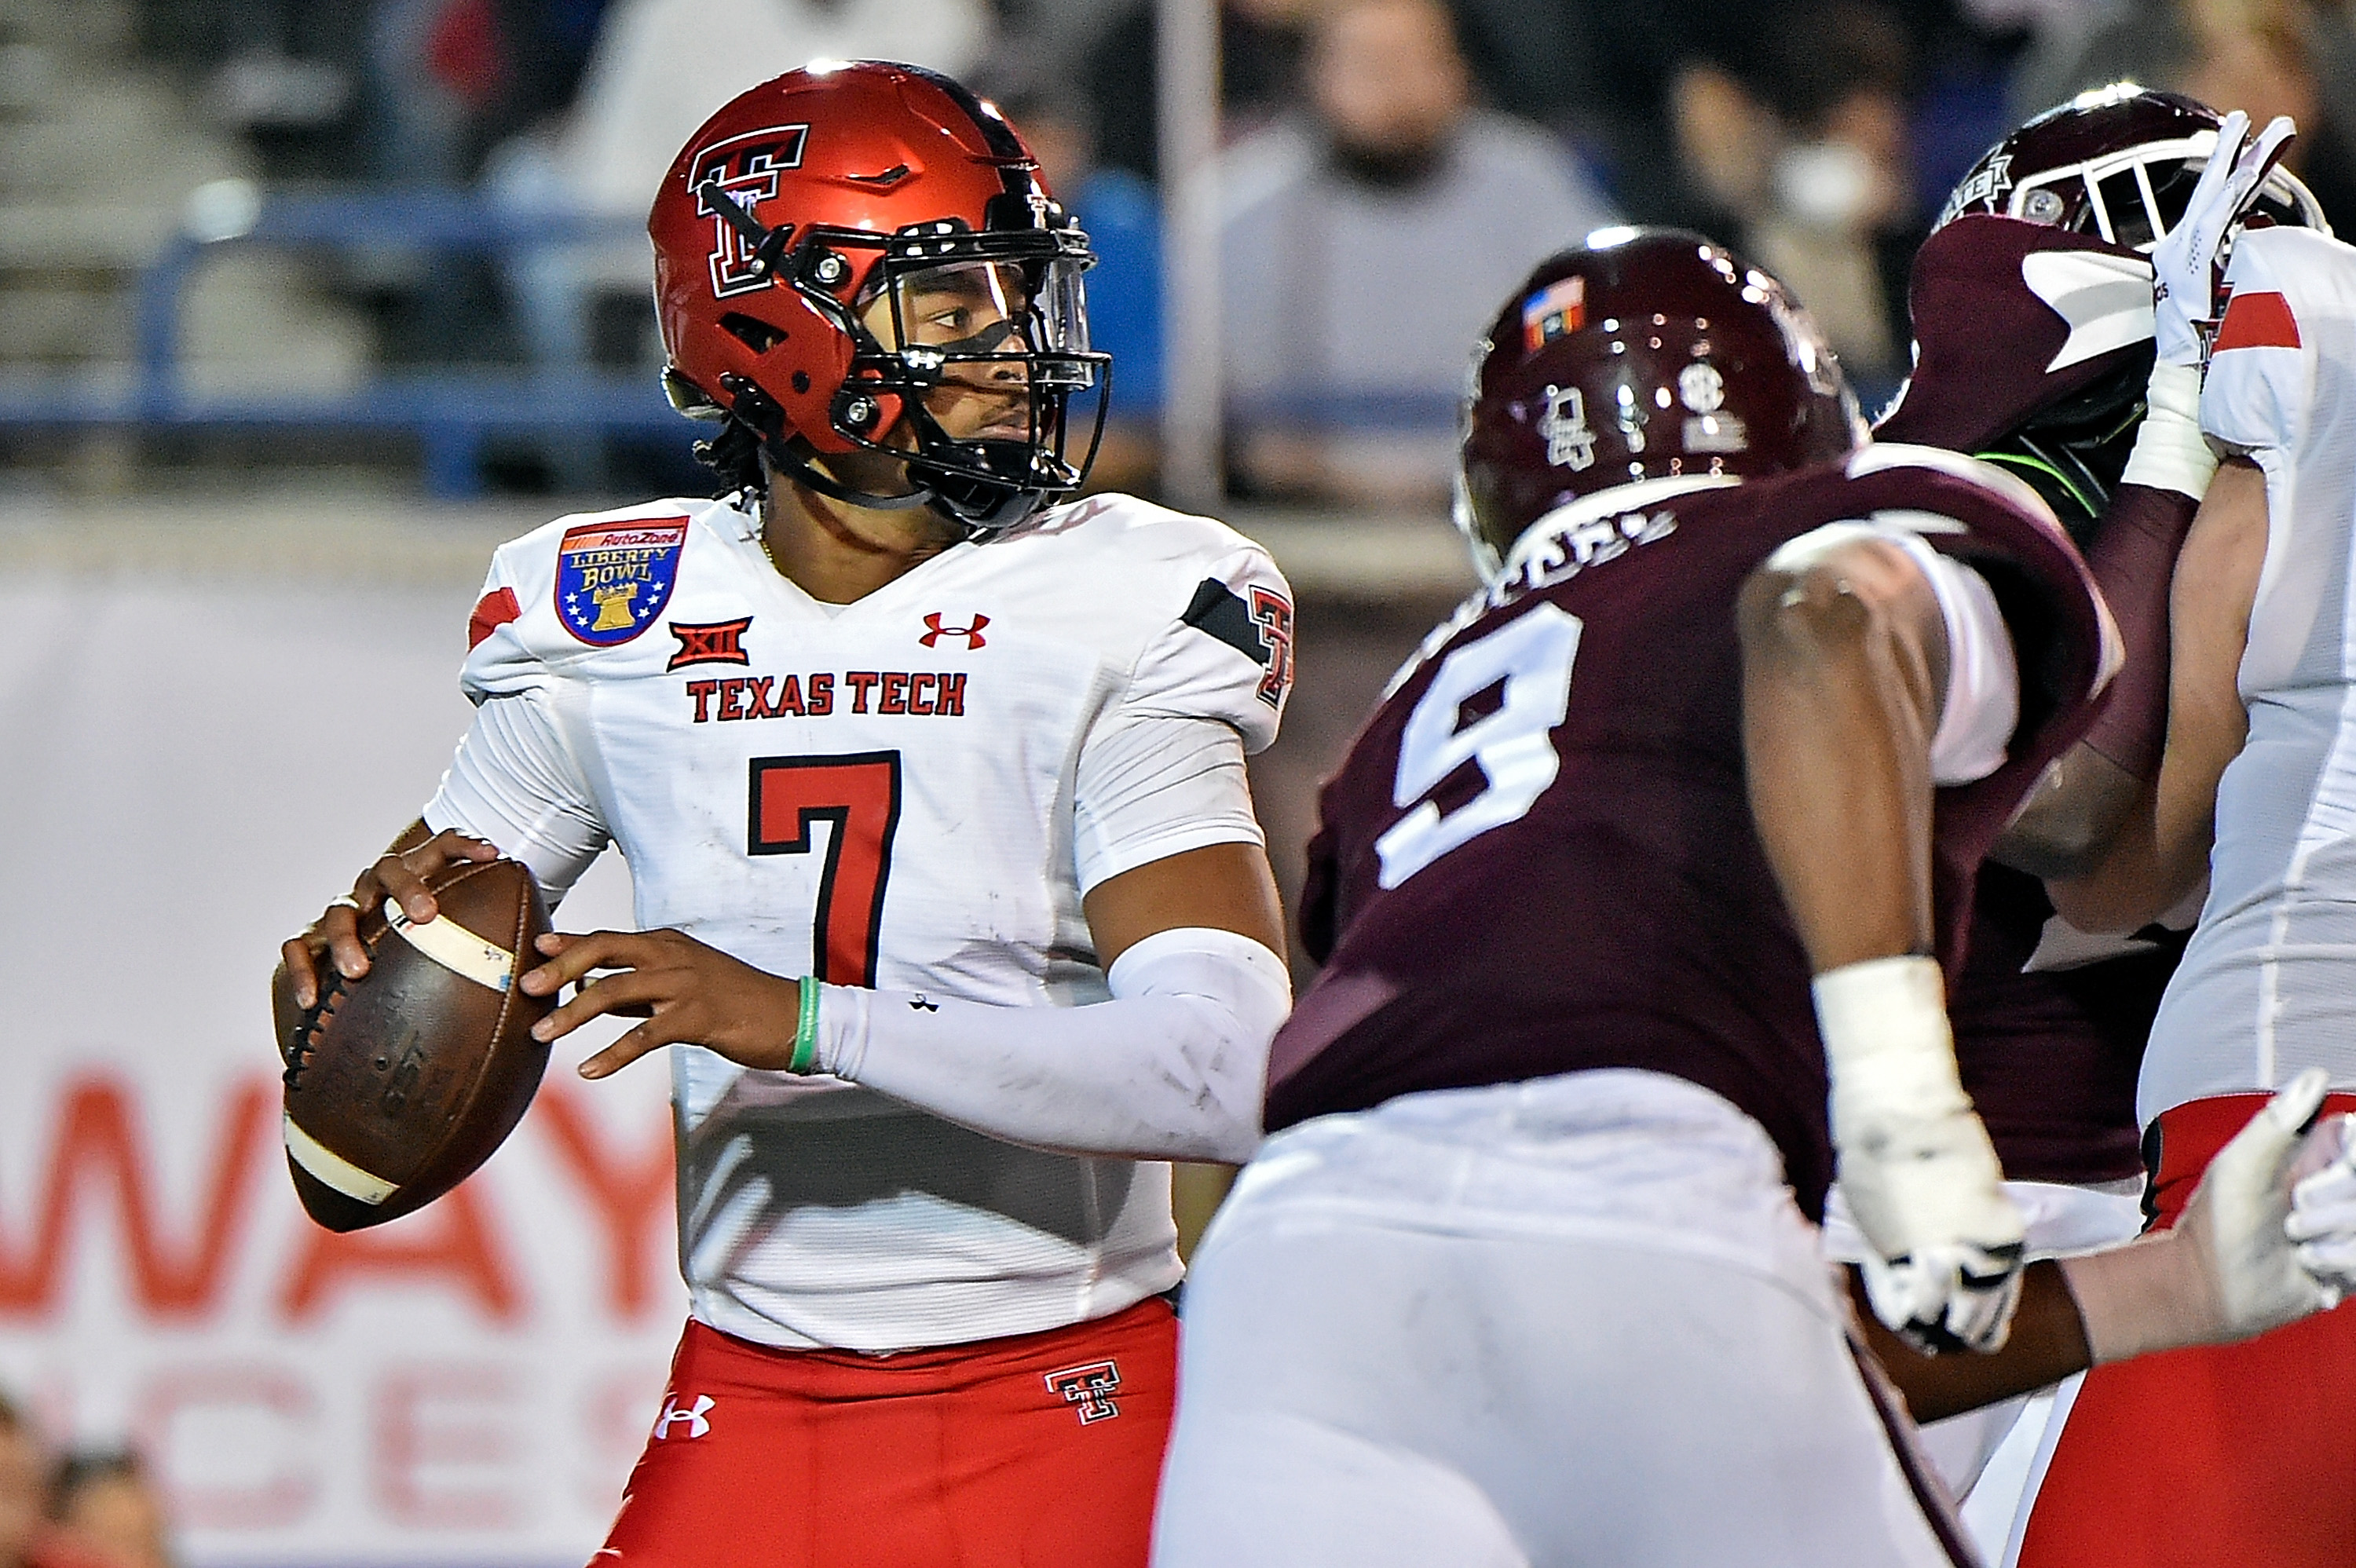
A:
[[[1743,247],[1887,396],[1906,266],[1953,181],[2017,120],[2125,75],[2295,115],[2292,165],[2356,228],[2349,0],[1225,0],[1220,40],[1230,485],[1258,497],[1430,504],[1484,313],[1616,221]],[[1008,108],[1096,238],[1103,478],[1152,487],[1152,0],[139,0],[137,47],[264,181],[474,186],[617,233],[669,148],[766,75],[949,71]],[[384,353],[653,353],[643,245],[429,287],[422,313],[377,299]]]

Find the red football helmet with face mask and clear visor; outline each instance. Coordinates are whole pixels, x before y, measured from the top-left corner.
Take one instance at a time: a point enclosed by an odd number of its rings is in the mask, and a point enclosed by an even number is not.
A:
[[[1008,527],[1079,485],[1088,235],[1023,139],[945,75],[813,64],[730,99],[679,151],[646,219],[671,403],[740,419],[796,483],[862,506]],[[942,426],[966,391],[985,410]],[[973,405],[968,405],[971,410]],[[914,494],[853,490],[810,459],[907,464]]]

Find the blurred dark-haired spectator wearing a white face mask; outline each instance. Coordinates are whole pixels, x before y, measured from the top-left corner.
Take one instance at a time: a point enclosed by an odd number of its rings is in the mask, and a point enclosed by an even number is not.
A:
[[[1880,403],[1906,370],[1906,264],[1922,240],[1904,28],[1864,0],[1786,0],[1701,47],[1670,82],[1685,221],[1783,278]]]

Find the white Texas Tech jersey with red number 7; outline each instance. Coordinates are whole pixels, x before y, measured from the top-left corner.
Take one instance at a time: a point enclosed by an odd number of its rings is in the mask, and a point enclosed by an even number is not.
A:
[[[589,824],[629,859],[641,928],[761,970],[1006,1008],[1105,1001],[1088,888],[1258,838],[1242,805],[1107,817],[1091,744],[1176,718],[1258,751],[1291,683],[1268,553],[1131,497],[959,544],[851,605],[782,577],[726,501],[563,518],[499,549],[474,636],[466,695],[535,695],[570,763],[499,779],[502,808],[523,796],[507,838]],[[450,796],[429,824],[502,838]],[[1166,1165],[1015,1147],[702,1048],[671,1050],[671,1081],[681,1267],[730,1335],[947,1344],[1178,1281]]]

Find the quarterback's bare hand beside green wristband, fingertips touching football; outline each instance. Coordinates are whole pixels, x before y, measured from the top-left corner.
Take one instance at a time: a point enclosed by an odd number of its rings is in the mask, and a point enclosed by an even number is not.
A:
[[[676,930],[556,932],[540,939],[547,958],[516,984],[525,996],[554,996],[580,984],[556,1012],[532,1024],[532,1038],[558,1041],[594,1017],[653,1015],[582,1062],[582,1078],[605,1078],[660,1045],[704,1045],[742,1067],[785,1071],[801,1024],[801,982],[730,958]]]

